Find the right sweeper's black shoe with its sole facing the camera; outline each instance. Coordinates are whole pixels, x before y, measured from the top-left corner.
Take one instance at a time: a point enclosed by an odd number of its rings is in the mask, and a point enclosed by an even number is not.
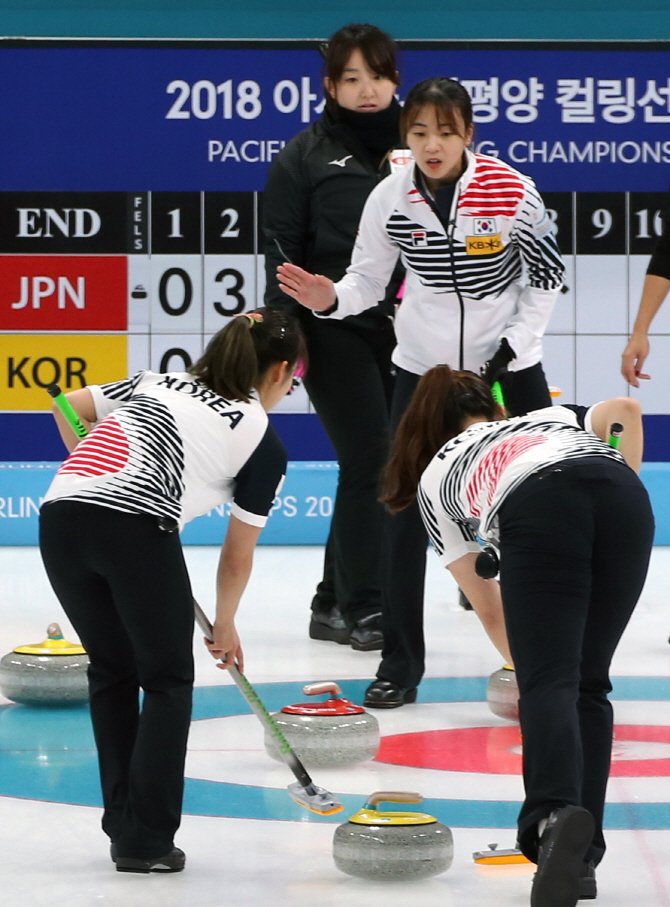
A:
[[[594,828],[593,816],[581,806],[554,810],[540,838],[530,907],[575,907]]]

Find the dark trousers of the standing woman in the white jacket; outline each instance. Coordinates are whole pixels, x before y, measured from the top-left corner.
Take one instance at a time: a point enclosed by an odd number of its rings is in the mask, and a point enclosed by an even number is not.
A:
[[[395,433],[420,375],[398,369],[391,408]],[[504,385],[505,403],[513,416],[551,406],[541,363],[509,372]],[[393,516],[386,514],[382,546],[382,623],[384,648],[377,677],[405,689],[418,686],[425,667],[423,596],[428,534],[412,504]]]

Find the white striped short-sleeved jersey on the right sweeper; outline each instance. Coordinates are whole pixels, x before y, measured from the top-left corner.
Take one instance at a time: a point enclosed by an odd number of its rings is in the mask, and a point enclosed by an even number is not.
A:
[[[442,447],[421,477],[421,516],[443,564],[496,544],[497,513],[532,473],[562,460],[623,457],[593,434],[593,407],[551,406],[501,422],[477,422]]]

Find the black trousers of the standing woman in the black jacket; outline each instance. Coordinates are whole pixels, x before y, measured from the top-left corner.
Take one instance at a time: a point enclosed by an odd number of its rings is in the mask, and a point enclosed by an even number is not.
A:
[[[384,508],[377,499],[388,455],[395,334],[390,319],[352,326],[307,312],[301,323],[309,350],[305,387],[339,462],[323,580],[312,608],[338,604],[351,629],[381,610]]]

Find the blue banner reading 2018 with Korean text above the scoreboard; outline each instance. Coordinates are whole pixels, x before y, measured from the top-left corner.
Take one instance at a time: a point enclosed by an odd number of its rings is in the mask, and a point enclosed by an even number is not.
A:
[[[663,191],[669,48],[408,42],[399,97],[429,76],[460,80],[477,149],[543,192]],[[322,110],[316,42],[0,49],[0,190],[261,191],[271,160]]]

